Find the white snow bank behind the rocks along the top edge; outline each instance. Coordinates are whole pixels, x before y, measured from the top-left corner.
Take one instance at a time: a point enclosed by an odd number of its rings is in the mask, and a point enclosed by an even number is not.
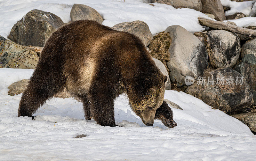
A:
[[[205,14],[188,8],[175,9],[170,5],[154,3],[151,6],[147,0],[0,0],[0,35],[7,38],[12,26],[28,11],[39,9],[59,16],[63,22],[70,21],[70,11],[74,3],[85,4],[96,9],[104,18],[103,25],[114,26],[121,22],[135,20],[145,21],[151,33],[164,31],[168,26],[180,25],[189,32],[203,31],[198,23],[198,17],[208,18]],[[221,0],[221,3],[231,7],[226,14],[243,12],[249,15],[255,1],[232,2]],[[233,20],[238,26],[256,25],[256,18],[249,17],[245,22]]]

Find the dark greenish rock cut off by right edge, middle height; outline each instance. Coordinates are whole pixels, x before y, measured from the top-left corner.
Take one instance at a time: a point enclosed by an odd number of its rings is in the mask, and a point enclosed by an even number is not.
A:
[[[242,62],[237,64],[235,70],[245,77],[252,91],[254,100],[252,105],[256,106],[256,57],[252,54],[245,55]]]

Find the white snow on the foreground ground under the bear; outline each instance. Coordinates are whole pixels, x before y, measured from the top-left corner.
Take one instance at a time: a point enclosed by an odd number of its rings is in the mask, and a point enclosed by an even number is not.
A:
[[[32,73],[0,68],[1,161],[256,159],[256,137],[245,124],[184,92],[165,91],[165,99],[184,109],[173,109],[178,126],[172,129],[160,121],[145,126],[126,96],[115,101],[116,123],[124,127],[85,121],[82,103],[73,98],[48,100],[35,120],[17,117],[21,94],[8,96],[8,86]],[[74,138],[82,134],[87,136]]]

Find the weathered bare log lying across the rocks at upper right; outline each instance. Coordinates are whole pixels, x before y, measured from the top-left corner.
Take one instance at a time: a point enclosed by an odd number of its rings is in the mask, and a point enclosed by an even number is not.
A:
[[[214,29],[227,30],[230,32],[242,34],[248,36],[250,39],[256,38],[256,30],[239,27],[225,22],[213,21],[207,18],[199,17],[198,21],[201,25],[208,26]]]

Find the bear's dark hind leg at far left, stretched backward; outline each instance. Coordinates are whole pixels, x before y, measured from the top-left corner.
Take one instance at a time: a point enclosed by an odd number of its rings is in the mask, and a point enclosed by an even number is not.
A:
[[[44,61],[45,62],[45,61]],[[54,62],[53,62],[54,63]],[[54,94],[64,89],[64,79],[58,67],[43,64],[39,60],[36,69],[29,79],[19,105],[18,116],[29,116],[42,106]]]

